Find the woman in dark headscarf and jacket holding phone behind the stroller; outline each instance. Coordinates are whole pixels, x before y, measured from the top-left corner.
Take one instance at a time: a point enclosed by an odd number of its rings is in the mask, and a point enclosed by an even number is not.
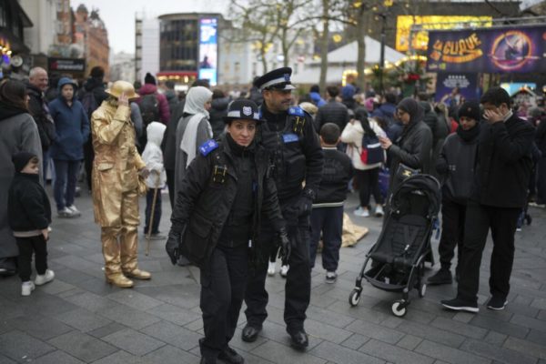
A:
[[[399,102],[395,116],[403,125],[402,134],[394,142],[388,137],[379,136],[379,143],[387,150],[389,157],[389,191],[393,191],[401,182],[397,178],[400,164],[429,173],[432,148],[432,132],[423,122],[424,109],[417,101],[404,98]]]

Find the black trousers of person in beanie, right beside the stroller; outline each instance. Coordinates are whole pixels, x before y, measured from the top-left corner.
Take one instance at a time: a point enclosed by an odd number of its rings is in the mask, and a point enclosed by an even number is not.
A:
[[[450,269],[451,259],[455,256],[455,247],[457,247],[457,258],[460,267],[465,213],[466,205],[458,204],[447,198],[441,201],[441,238],[438,245],[441,268]]]

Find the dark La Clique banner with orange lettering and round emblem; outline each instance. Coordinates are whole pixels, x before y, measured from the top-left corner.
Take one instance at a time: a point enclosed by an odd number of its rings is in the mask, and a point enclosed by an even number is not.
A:
[[[546,72],[546,25],[434,31],[430,72]]]

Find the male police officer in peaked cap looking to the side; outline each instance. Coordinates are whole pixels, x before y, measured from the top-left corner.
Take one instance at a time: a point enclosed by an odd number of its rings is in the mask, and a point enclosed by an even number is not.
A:
[[[292,246],[288,259],[290,268],[284,319],[292,346],[305,349],[308,336],[303,323],[311,291],[309,214],[319,188],[323,156],[311,116],[297,106],[290,106],[291,92],[296,88],[290,83],[291,74],[289,67],[278,68],[259,77],[256,86],[264,96],[260,112],[267,121],[261,128],[261,143],[269,153],[278,200]],[[260,243],[270,246],[275,243],[275,236],[271,224],[265,221]],[[258,338],[262,323],[268,317],[268,292],[265,288],[268,257],[260,260],[258,268],[248,278],[245,296],[247,326],[243,329],[242,339],[248,342]]]

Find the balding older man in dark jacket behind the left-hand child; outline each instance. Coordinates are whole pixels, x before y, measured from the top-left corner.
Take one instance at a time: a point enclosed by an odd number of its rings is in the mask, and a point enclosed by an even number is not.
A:
[[[45,101],[44,92],[47,89],[49,78],[42,67],[34,67],[30,70],[26,90],[28,92],[28,109],[34,117],[38,134],[42,143],[42,157],[44,159],[44,181],[47,180],[47,165],[49,164],[49,147],[56,138],[55,123],[49,115],[49,108]]]

